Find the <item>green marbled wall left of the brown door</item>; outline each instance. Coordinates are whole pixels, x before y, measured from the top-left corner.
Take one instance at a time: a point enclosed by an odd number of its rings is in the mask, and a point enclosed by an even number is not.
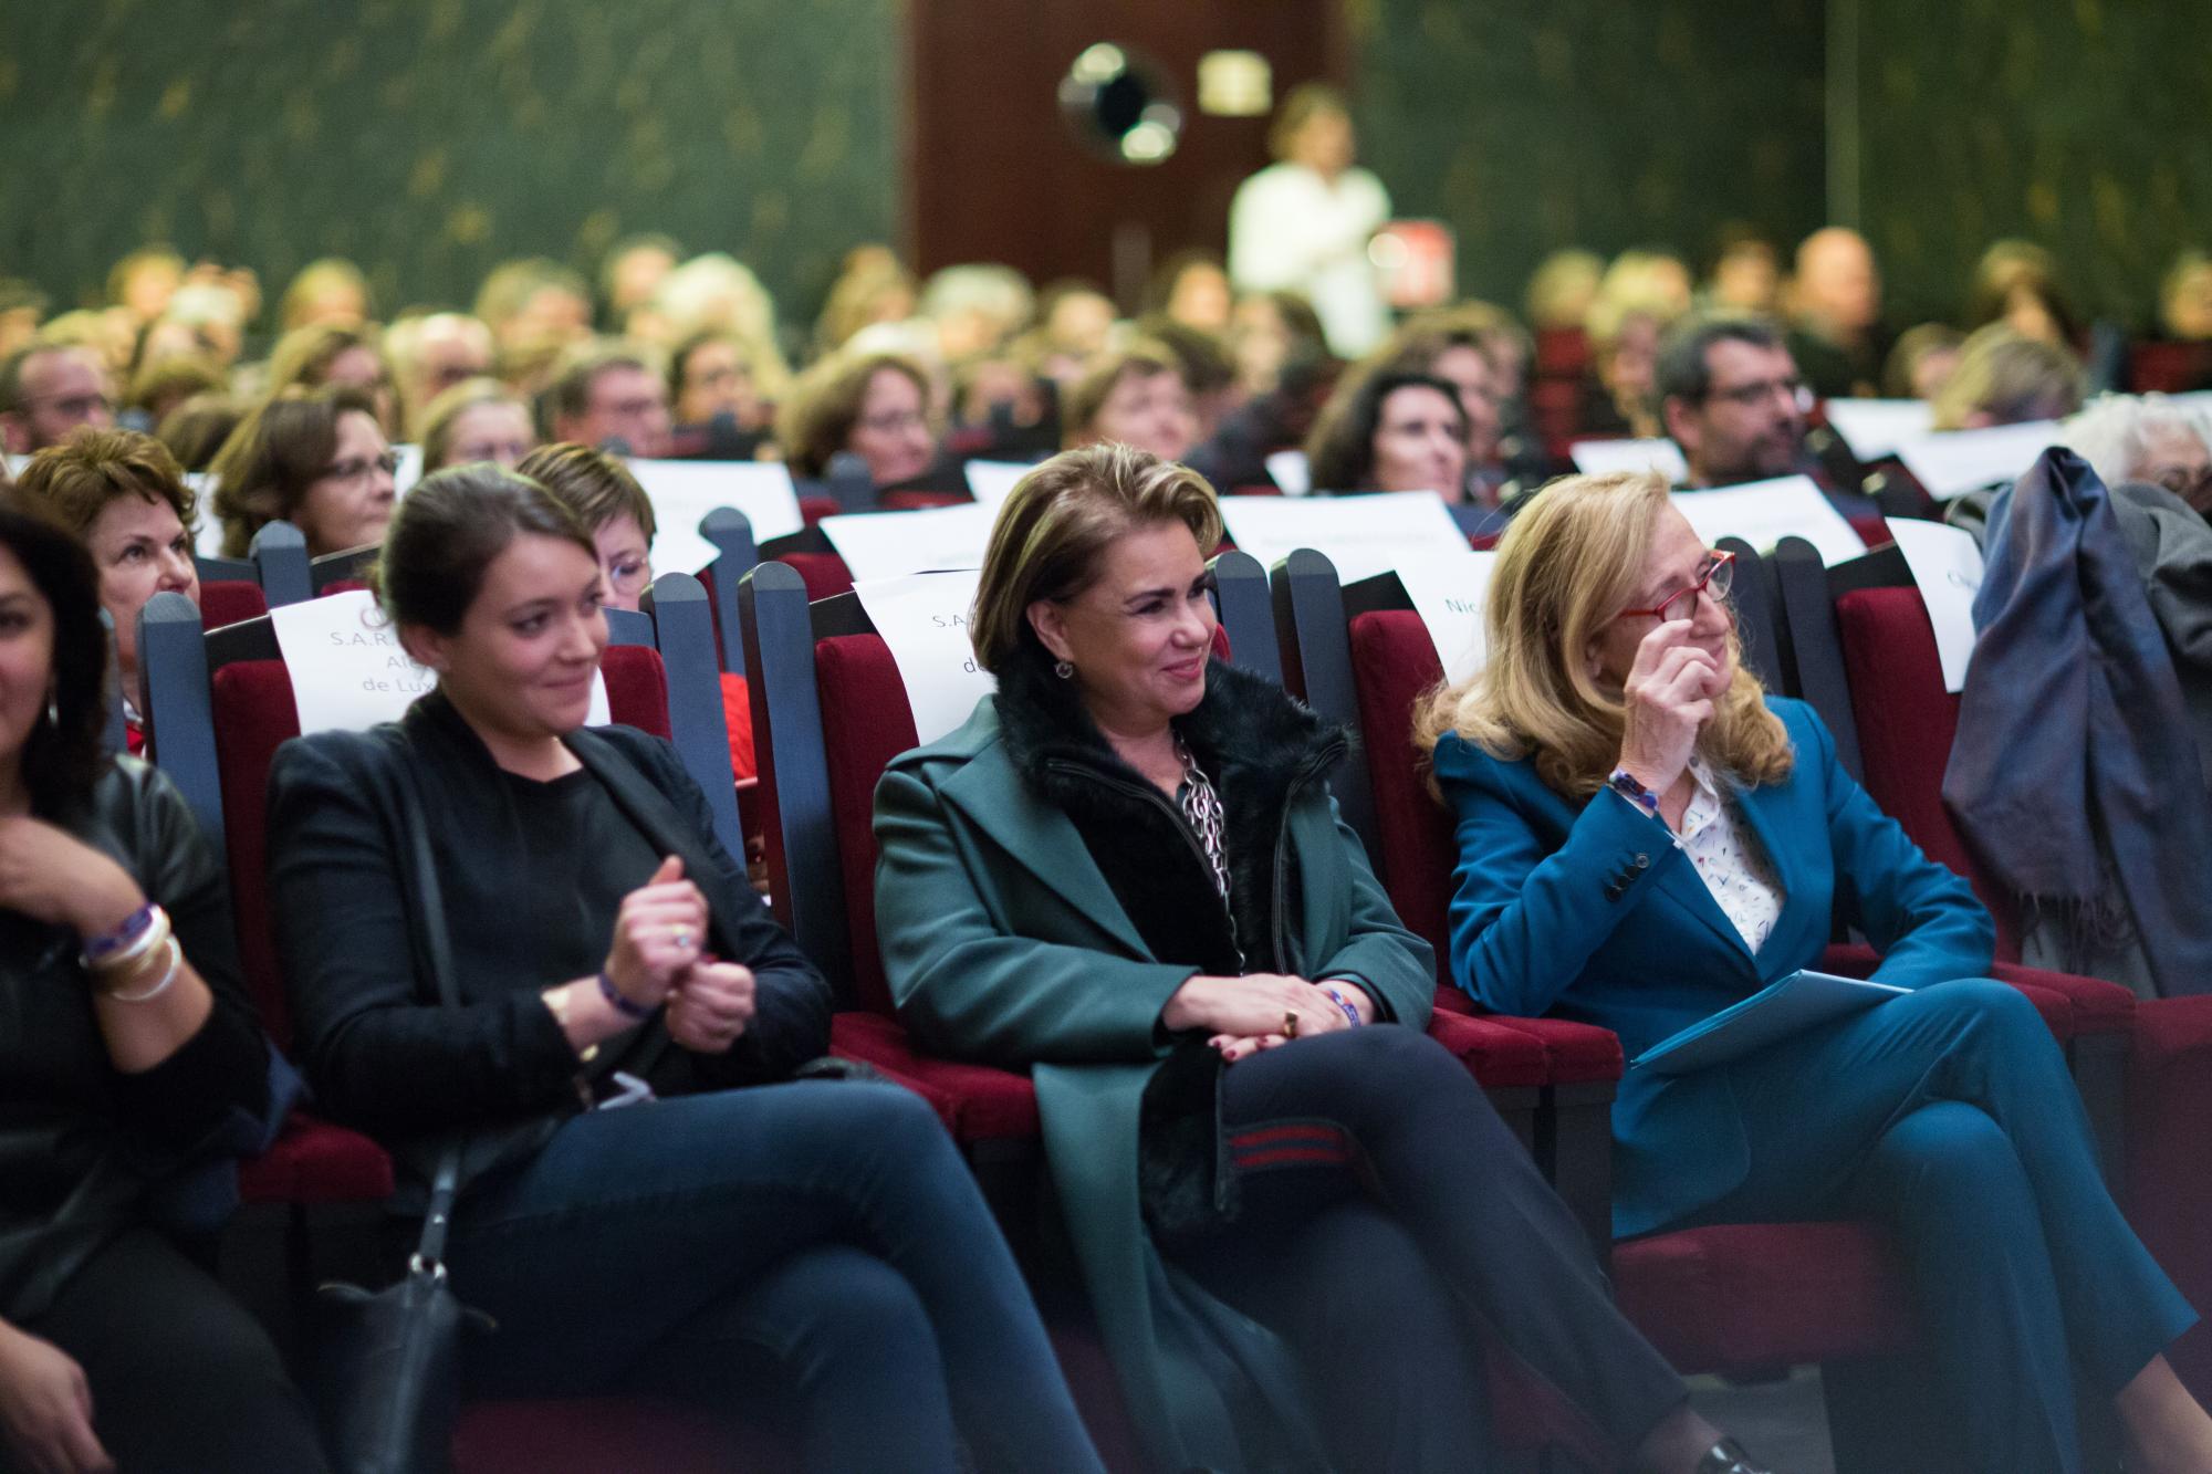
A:
[[[58,305],[142,239],[319,255],[378,305],[635,230],[812,312],[898,217],[898,0],[0,0],[0,274]]]

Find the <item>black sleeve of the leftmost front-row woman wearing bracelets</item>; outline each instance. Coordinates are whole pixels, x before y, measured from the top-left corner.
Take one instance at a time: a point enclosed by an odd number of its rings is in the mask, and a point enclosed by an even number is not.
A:
[[[268,1113],[268,1038],[239,983],[230,894],[215,850],[164,772],[146,768],[137,783],[135,854],[126,863],[146,899],[168,912],[177,945],[215,1007],[199,1031],[153,1069],[117,1071],[115,1091],[139,1135],[190,1149],[228,1127],[237,1111],[254,1120]]]

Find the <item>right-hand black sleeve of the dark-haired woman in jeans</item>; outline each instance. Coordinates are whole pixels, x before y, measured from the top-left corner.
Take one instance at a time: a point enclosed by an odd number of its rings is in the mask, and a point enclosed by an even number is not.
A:
[[[830,985],[792,934],[761,905],[745,865],[714,837],[714,810],[706,801],[706,790],[684,770],[675,748],[648,739],[641,752],[633,744],[633,757],[681,814],[714,868],[712,885],[706,876],[697,881],[714,907],[714,925],[730,945],[728,961],[750,967],[757,985],[757,1011],[745,1034],[723,1053],[692,1056],[692,1069],[701,1084],[714,1089],[783,1080],[830,1051]]]

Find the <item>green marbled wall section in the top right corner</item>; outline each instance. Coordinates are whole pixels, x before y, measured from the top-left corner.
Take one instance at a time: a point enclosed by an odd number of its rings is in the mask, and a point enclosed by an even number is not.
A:
[[[2212,7],[1849,2],[1863,212],[1900,316],[1953,312],[1982,248],[2024,235],[2090,310],[2148,323],[2172,255],[2212,243]]]

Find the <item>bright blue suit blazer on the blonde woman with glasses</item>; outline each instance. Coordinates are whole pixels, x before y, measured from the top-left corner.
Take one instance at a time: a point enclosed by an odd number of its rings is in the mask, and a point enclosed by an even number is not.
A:
[[[1451,980],[1500,1014],[1613,1029],[1635,1058],[1814,965],[1838,918],[1882,954],[1874,974],[1882,983],[1986,974],[1995,927],[1966,883],[1874,806],[1809,706],[1785,697],[1767,706],[1790,730],[1796,766],[1781,783],[1736,795],[1785,894],[1756,956],[1659,819],[1613,792],[1564,799],[1531,759],[1438,741],[1436,779],[1460,845]],[[1632,1069],[1621,1080],[1617,1235],[1661,1228],[1743,1182],[1750,1146],[1728,1073]]]

